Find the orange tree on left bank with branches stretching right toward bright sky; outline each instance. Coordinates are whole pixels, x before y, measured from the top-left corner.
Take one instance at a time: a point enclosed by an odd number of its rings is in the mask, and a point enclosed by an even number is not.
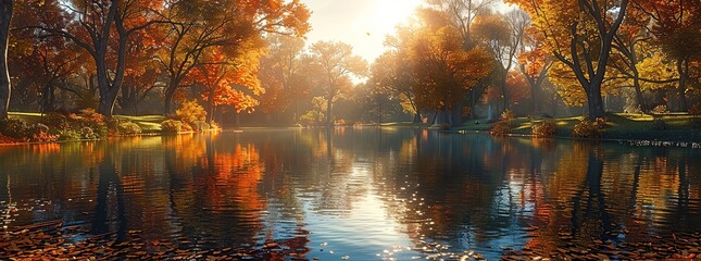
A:
[[[171,0],[161,15],[167,23],[167,37],[158,55],[168,83],[164,113],[173,109],[173,98],[189,72],[199,65],[203,53],[215,47],[239,48],[262,34],[303,36],[309,30],[310,12],[299,0]]]

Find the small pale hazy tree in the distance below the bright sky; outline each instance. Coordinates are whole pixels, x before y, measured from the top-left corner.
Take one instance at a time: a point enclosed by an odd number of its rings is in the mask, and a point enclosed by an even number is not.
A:
[[[353,48],[339,41],[317,41],[310,49],[314,66],[312,77],[326,98],[326,126],[333,124],[333,107],[342,90],[352,86],[352,77],[362,77],[367,63],[353,54]]]

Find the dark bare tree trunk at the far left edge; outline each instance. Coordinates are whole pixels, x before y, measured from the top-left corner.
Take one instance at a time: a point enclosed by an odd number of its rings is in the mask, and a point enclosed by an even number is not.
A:
[[[12,87],[8,70],[8,47],[10,23],[12,20],[12,0],[0,0],[0,120],[8,119]]]

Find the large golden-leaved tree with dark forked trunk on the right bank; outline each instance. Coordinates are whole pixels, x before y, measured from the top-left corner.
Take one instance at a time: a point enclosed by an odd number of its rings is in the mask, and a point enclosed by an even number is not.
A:
[[[543,36],[543,47],[575,76],[586,97],[591,120],[604,115],[602,84],[613,38],[628,8],[628,0],[508,0],[533,17]],[[575,85],[567,85],[567,88]]]

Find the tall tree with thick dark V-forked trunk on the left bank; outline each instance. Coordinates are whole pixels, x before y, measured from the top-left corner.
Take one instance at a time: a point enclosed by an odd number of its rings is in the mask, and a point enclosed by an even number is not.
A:
[[[26,28],[64,37],[90,53],[100,92],[98,112],[112,116],[124,80],[128,39],[158,23],[153,11],[163,7],[162,1],[47,0],[41,5],[59,5],[72,18],[65,23],[42,21]]]

